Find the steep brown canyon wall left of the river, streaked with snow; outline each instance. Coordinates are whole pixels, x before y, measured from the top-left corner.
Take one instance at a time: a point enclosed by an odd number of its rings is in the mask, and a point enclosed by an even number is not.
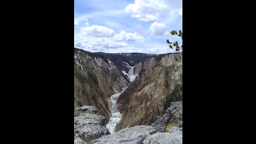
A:
[[[74,109],[89,105],[99,109],[100,115],[111,116],[110,96],[129,85],[123,73],[109,59],[90,57],[82,51],[74,53]]]

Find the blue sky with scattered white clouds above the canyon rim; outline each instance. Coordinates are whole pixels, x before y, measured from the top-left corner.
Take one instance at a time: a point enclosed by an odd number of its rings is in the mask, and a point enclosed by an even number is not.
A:
[[[182,0],[75,0],[74,5],[74,46],[83,50],[161,54],[176,52],[166,39],[182,45],[170,33],[182,30]]]

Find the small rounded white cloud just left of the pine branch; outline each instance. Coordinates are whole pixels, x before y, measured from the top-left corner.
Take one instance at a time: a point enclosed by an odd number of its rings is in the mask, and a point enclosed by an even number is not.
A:
[[[157,21],[151,24],[149,30],[151,31],[151,35],[167,35],[164,23],[158,23]]]

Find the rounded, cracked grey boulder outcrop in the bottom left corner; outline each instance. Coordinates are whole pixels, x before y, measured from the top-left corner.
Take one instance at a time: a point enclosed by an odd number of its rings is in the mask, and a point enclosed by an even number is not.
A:
[[[110,134],[105,127],[105,117],[99,115],[99,110],[92,106],[83,106],[75,109],[74,135],[77,143],[90,143],[102,135]]]

